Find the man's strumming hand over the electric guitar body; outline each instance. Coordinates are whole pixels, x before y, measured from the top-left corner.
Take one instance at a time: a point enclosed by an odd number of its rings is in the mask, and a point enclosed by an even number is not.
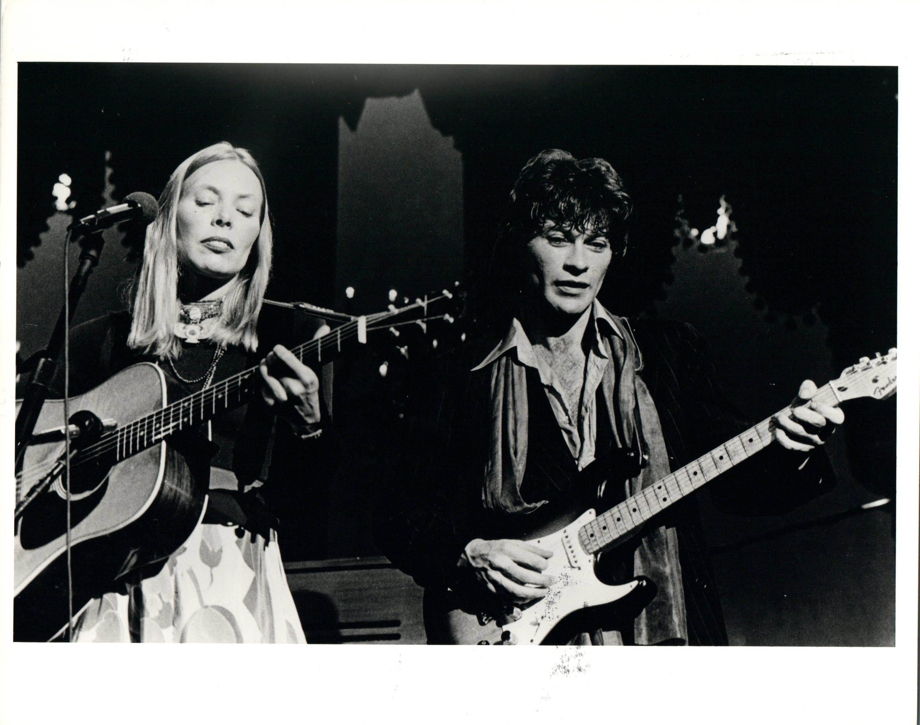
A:
[[[458,566],[472,571],[479,584],[508,604],[526,604],[549,592],[550,578],[540,572],[552,551],[517,539],[473,539]]]

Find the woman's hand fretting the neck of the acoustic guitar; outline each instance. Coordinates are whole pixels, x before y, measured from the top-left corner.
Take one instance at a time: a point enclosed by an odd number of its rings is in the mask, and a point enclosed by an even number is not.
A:
[[[320,328],[314,339],[328,333]],[[265,404],[295,431],[310,433],[319,423],[319,379],[309,367],[283,345],[275,345],[259,363],[260,393]],[[318,433],[317,433],[318,434]]]

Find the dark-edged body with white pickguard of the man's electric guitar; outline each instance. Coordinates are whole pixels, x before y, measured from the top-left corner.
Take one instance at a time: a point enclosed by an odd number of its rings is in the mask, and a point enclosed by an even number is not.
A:
[[[644,577],[613,585],[597,578],[594,570],[597,557],[587,553],[578,540],[581,526],[595,515],[593,509],[581,515],[564,512],[540,526],[533,535],[521,536],[553,552],[544,573],[554,582],[543,599],[521,607],[522,616],[516,621],[499,615],[484,622],[476,604],[453,592],[426,592],[425,629],[429,644],[503,644],[506,640],[513,644],[540,644],[547,638],[561,644],[567,641],[566,633],[597,628],[596,622],[592,625],[597,607],[615,604],[633,593],[647,592],[650,582]],[[560,519],[567,523],[554,528]]]

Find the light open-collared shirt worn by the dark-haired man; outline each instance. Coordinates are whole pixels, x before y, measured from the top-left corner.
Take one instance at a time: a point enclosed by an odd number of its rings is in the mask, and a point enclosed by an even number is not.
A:
[[[579,470],[594,460],[597,443],[597,388],[601,385],[604,370],[610,363],[610,357],[604,350],[604,338],[600,326],[606,325],[617,337],[622,338],[610,313],[596,299],[592,303],[591,319],[588,320],[586,335],[591,335],[591,346],[584,369],[584,385],[581,388],[581,409],[569,410],[562,395],[562,386],[557,375],[544,363],[534,351],[534,345],[524,332],[521,322],[515,317],[505,338],[473,370],[479,370],[494,363],[502,355],[514,354],[519,363],[533,368],[540,376],[540,382],[546,391],[549,407],[562,431],[562,436],[569,446],[569,452],[578,464]]]

